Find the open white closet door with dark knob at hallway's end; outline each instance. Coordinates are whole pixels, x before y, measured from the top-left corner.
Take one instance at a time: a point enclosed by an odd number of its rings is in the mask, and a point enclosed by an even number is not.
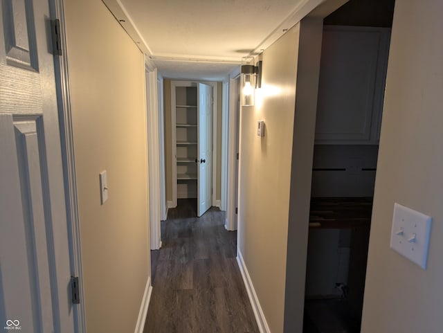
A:
[[[212,147],[213,147],[213,88],[208,84],[199,83],[199,120],[198,120],[198,190],[197,213],[204,215],[211,206],[212,196]]]

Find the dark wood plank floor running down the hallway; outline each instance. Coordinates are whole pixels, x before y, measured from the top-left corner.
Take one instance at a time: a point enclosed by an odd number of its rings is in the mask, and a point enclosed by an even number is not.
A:
[[[237,266],[237,233],[224,212],[197,218],[197,201],[179,200],[152,251],[152,297],[144,333],[258,333]]]

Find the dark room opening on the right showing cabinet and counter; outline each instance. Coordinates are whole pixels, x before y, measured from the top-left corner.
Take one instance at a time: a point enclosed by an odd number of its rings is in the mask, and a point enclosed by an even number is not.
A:
[[[360,332],[394,1],[324,20],[304,333]]]

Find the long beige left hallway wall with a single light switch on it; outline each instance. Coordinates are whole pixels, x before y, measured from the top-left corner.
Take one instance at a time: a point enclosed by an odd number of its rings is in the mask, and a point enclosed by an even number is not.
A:
[[[101,1],[65,10],[87,331],[134,332],[150,272],[143,54]]]

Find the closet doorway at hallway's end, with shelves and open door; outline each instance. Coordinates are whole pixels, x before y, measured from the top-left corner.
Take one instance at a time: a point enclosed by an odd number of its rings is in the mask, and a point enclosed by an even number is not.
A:
[[[179,199],[197,199],[197,216],[201,216],[219,206],[214,202],[220,187],[215,183],[220,170],[216,134],[221,133],[217,87],[217,82],[172,80],[170,91],[165,88],[165,106],[170,109],[165,117],[168,208],[177,207]]]

